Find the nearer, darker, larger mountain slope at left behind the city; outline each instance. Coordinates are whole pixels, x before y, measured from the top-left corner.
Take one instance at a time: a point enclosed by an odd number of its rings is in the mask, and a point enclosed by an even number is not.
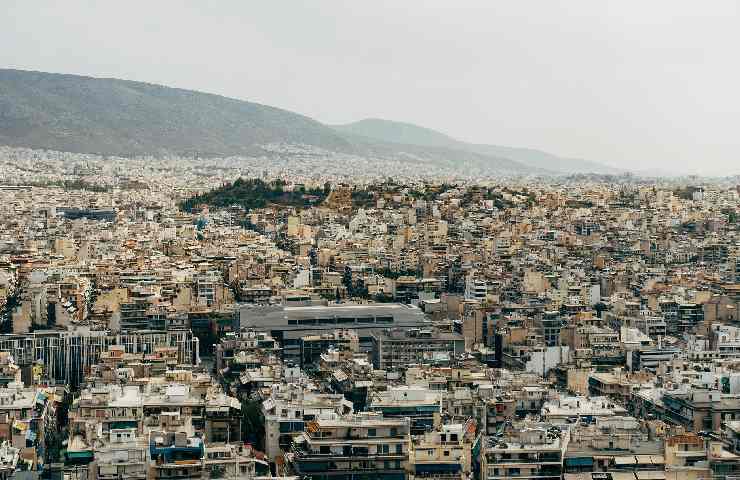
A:
[[[131,155],[238,155],[274,142],[347,149],[303,115],[126,80],[0,69],[0,144]]]

